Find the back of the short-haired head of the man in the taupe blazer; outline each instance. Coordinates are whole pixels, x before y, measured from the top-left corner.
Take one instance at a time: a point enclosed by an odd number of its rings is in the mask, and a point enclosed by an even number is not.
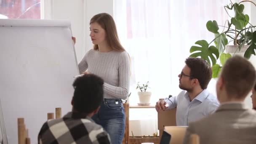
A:
[[[255,84],[256,71],[253,65],[241,56],[228,59],[220,77],[226,87],[227,95],[232,98],[245,98]]]

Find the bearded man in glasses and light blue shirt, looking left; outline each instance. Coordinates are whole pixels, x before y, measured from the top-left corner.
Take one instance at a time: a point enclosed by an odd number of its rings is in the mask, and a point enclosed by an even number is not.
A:
[[[206,90],[212,77],[207,61],[189,57],[185,63],[179,74],[179,88],[184,91],[178,96],[157,101],[155,105],[157,112],[177,107],[177,126],[187,126],[189,122],[200,120],[219,106],[216,96]]]

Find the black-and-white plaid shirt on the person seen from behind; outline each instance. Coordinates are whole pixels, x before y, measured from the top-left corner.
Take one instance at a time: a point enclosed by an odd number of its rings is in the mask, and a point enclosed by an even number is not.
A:
[[[69,112],[43,124],[38,144],[110,144],[110,138],[90,117]]]

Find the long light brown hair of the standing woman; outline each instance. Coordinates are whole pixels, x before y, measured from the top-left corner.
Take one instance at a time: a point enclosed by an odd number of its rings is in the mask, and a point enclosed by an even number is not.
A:
[[[99,13],[91,18],[90,24],[96,22],[106,31],[107,43],[114,51],[125,51],[120,44],[115,21],[108,13]],[[94,50],[99,50],[98,45],[93,46]]]

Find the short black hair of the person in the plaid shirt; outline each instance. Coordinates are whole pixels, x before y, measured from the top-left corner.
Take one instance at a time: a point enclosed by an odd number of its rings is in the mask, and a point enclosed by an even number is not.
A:
[[[78,77],[73,83],[74,109],[87,114],[96,110],[103,101],[103,84],[103,79],[93,74]]]

